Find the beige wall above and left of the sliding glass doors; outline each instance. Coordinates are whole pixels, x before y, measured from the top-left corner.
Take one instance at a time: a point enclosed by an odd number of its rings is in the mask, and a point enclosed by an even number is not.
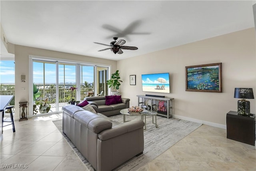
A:
[[[56,52],[52,50],[44,50],[39,48],[31,48],[27,46],[15,45],[15,120],[19,118],[19,102],[29,101],[29,56],[42,56],[47,58],[54,58],[56,60],[72,60],[73,62],[85,62],[90,64],[104,64],[111,66],[112,71],[116,71],[117,62],[114,60],[106,60],[102,58],[93,58],[88,56],[81,56],[75,54],[68,54],[63,52]],[[26,82],[20,82],[20,76],[26,76]],[[22,90],[25,87],[25,91]],[[28,104],[30,105],[30,104]],[[28,115],[29,115],[28,108]]]

